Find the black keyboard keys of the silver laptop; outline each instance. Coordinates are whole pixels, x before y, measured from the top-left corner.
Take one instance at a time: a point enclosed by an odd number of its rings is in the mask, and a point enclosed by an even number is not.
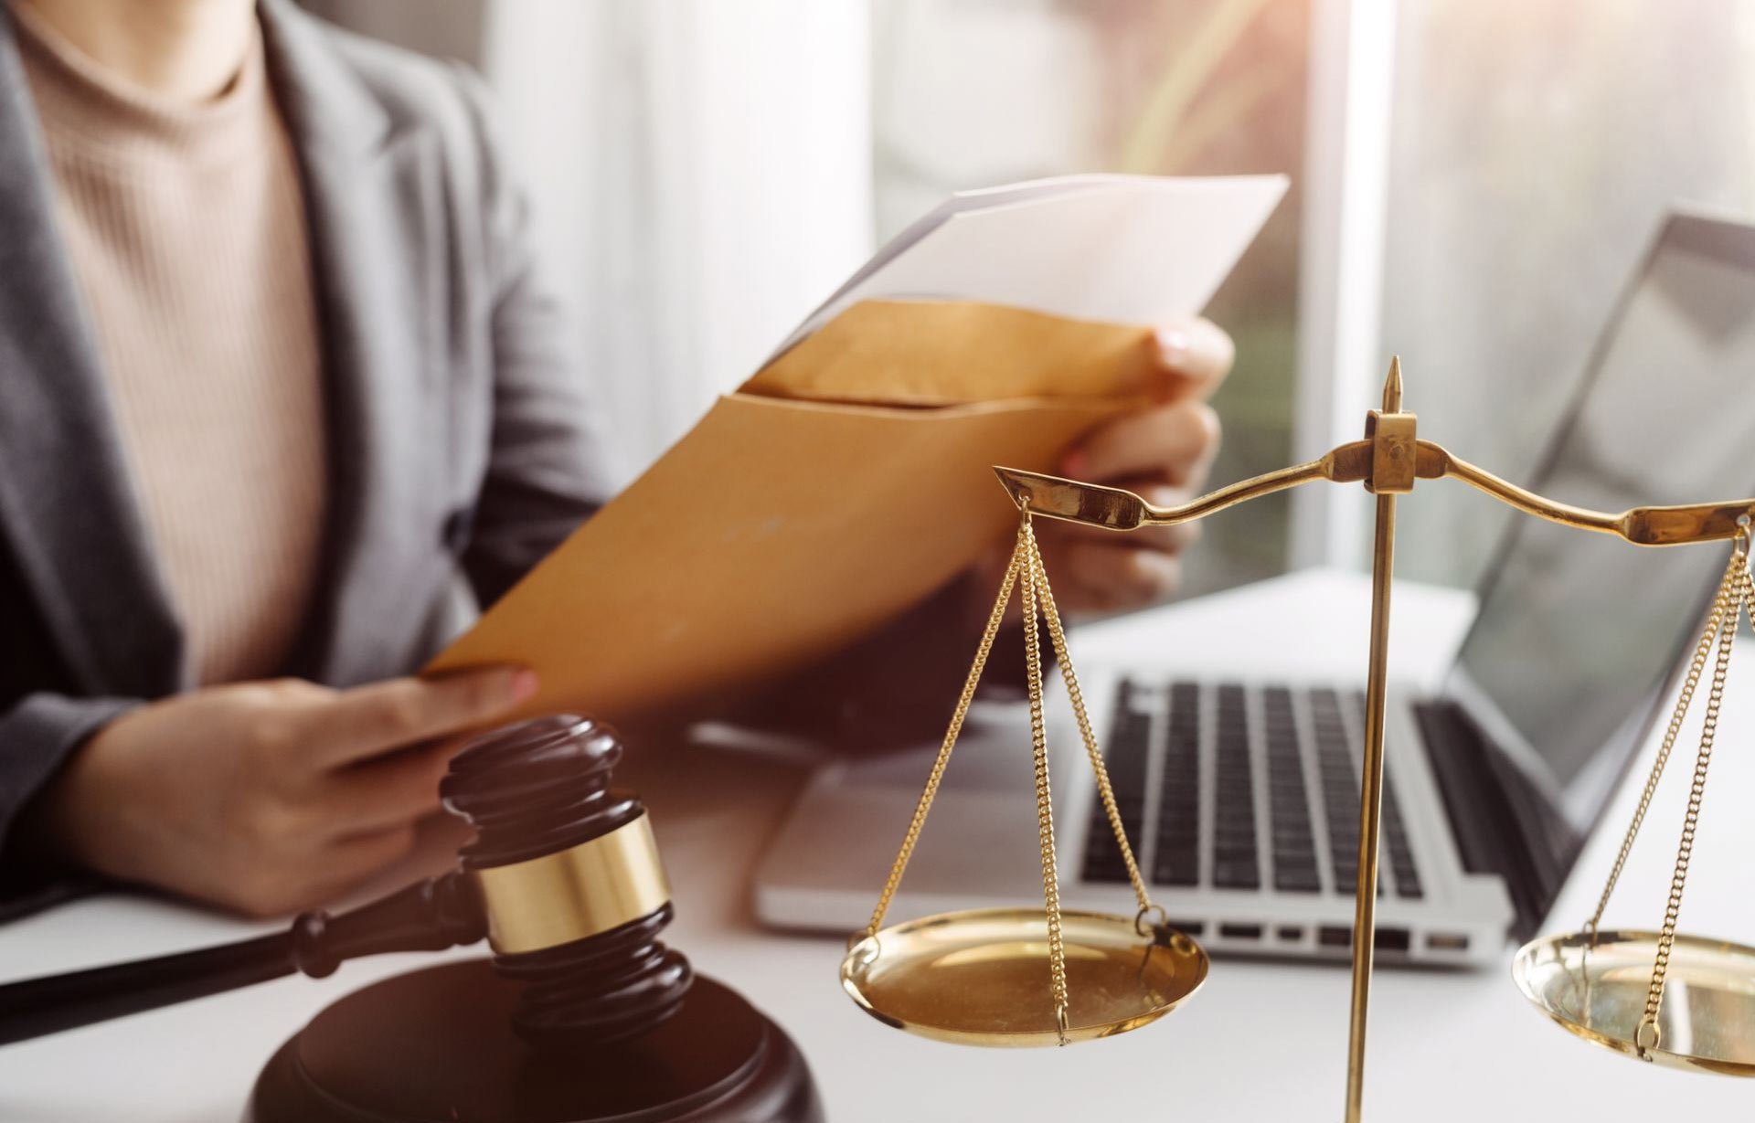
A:
[[[1162,695],[1162,698],[1160,698]],[[1255,698],[1251,698],[1255,695]],[[1251,705],[1253,702],[1253,705]],[[1307,721],[1299,721],[1299,711]],[[1167,711],[1162,719],[1155,714]],[[1286,686],[1244,688],[1225,683],[1153,686],[1123,681],[1104,762],[1116,809],[1146,876],[1162,886],[1202,884],[1200,842],[1209,837],[1206,884],[1225,890],[1351,897],[1358,879],[1358,744],[1365,697],[1358,691]],[[1211,728],[1207,728],[1211,726]],[[1258,726],[1258,730],[1255,728]],[[1251,751],[1251,733],[1262,753]],[[1202,737],[1211,751],[1202,760]],[[1304,739],[1309,739],[1306,753]],[[1153,769],[1157,758],[1158,767]],[[1314,760],[1320,800],[1306,783]],[[1260,763],[1257,763],[1260,762]],[[1202,821],[1202,767],[1211,769],[1211,821]],[[1157,770],[1158,798],[1148,814],[1148,784]],[[1267,851],[1257,830],[1258,786],[1267,793]],[[1085,848],[1085,881],[1127,883],[1121,849],[1100,802],[1093,802]],[[1323,883],[1318,833],[1325,835],[1329,879]],[[1150,848],[1150,853],[1137,853]],[[1395,786],[1383,783],[1383,858],[1397,897],[1423,897]],[[1388,883],[1388,884],[1386,884]]]

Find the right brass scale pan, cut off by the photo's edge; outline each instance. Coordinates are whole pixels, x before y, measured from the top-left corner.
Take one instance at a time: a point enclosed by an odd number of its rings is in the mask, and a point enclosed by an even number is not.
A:
[[[1523,997],[1599,1046],[1639,1056],[1657,932],[1583,932],[1525,944],[1511,963]],[[1678,935],[1669,955],[1655,1063],[1755,1076],[1755,948]]]

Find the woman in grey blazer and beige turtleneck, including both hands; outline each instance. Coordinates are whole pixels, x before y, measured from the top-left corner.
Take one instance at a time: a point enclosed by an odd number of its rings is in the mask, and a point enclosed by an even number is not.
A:
[[[0,863],[304,907],[534,690],[407,676],[605,497],[591,379],[463,70],[288,0],[7,16]],[[1069,472],[1204,474],[1230,342],[1162,342]],[[1179,535],[1044,532],[1069,609],[1174,584]]]

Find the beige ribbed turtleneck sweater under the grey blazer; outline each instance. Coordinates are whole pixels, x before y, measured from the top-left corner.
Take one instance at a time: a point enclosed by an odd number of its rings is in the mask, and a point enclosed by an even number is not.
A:
[[[305,212],[261,32],[219,97],[184,105],[12,12],[190,670],[277,674],[312,597],[326,470]]]

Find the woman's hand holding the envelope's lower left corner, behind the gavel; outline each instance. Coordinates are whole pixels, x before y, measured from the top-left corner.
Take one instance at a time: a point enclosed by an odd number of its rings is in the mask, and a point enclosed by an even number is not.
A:
[[[330,690],[212,686],[123,714],[44,791],[35,830],[88,869],[254,916],[319,904],[402,856],[455,735],[535,691],[528,670]],[[446,740],[451,739],[451,740]]]

